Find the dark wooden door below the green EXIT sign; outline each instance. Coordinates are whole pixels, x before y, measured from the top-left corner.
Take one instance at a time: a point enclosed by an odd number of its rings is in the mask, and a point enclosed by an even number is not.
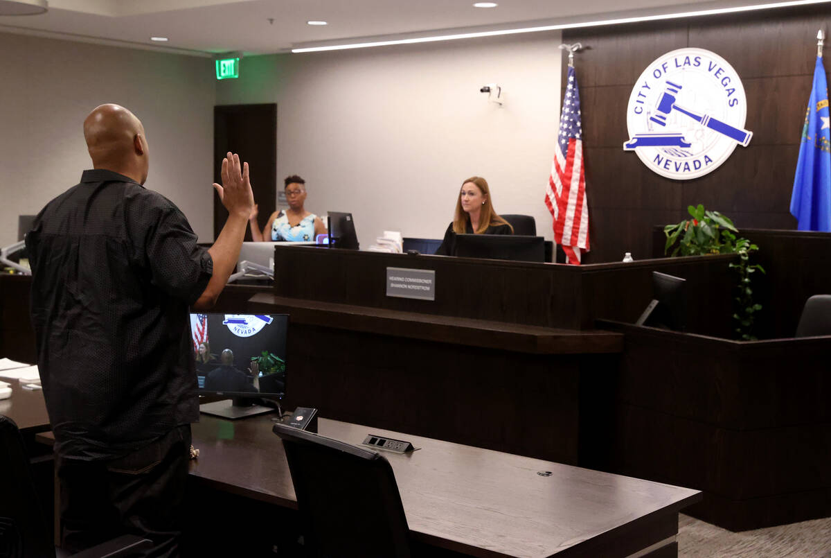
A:
[[[222,160],[229,152],[248,162],[259,227],[277,207],[277,104],[214,106],[214,181],[222,184]],[[214,239],[228,219],[214,192]],[[251,240],[251,231],[245,233]]]

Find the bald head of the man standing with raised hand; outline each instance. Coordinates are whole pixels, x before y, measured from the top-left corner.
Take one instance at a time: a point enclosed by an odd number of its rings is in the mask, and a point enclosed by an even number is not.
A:
[[[149,168],[145,127],[123,106],[96,106],[84,121],[84,139],[92,165],[144,184]]]

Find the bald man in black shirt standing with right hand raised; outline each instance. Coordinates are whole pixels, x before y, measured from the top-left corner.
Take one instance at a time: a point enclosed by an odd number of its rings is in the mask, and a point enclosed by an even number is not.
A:
[[[222,161],[214,188],[229,218],[204,249],[182,212],[145,190],[148,142],[132,112],[96,107],[84,138],[93,169],[26,237],[62,546],[132,533],[153,541],[146,556],[178,556],[199,420],[189,306],[213,306],[234,269],[253,208],[248,164]]]

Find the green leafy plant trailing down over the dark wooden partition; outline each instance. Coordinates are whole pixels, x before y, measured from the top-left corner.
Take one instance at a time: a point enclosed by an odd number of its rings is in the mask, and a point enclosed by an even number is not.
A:
[[[752,276],[757,271],[764,274],[765,269],[760,264],[750,264],[750,254],[759,250],[759,246],[737,236],[739,230],[733,221],[718,211],[707,211],[701,204],[697,207],[690,205],[687,211],[692,219],[664,227],[664,254],[670,254],[670,251],[671,256],[739,254],[738,263],[730,264],[730,269],[735,269],[739,276],[733,297],[734,331],[736,337],[743,341],[754,340],[753,325],[762,305],[753,299]]]

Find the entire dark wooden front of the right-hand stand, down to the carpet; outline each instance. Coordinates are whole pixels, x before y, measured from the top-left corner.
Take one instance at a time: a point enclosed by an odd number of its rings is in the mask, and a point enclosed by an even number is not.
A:
[[[831,500],[814,497],[831,486],[829,338],[737,343],[620,330],[609,470],[706,491],[690,513],[728,528],[831,513]],[[790,507],[777,509],[783,502]]]

